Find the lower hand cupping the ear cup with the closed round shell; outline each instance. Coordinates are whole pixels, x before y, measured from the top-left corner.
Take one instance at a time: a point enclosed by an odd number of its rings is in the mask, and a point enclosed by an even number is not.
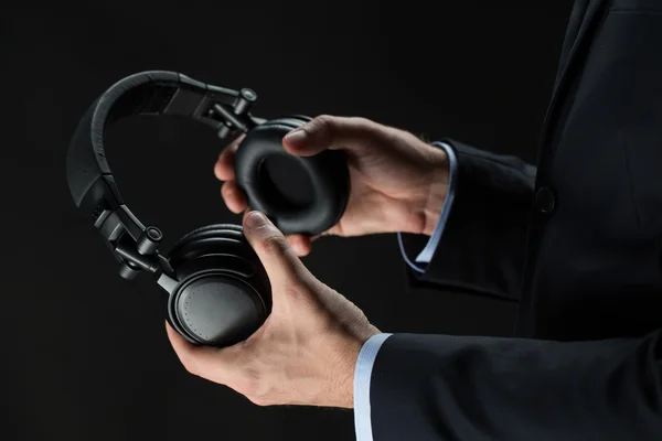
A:
[[[256,405],[352,408],[359,352],[380,331],[317,280],[261,213],[244,217],[244,234],[271,282],[271,314],[248,340],[225,348],[193,346],[167,325],[180,361]]]

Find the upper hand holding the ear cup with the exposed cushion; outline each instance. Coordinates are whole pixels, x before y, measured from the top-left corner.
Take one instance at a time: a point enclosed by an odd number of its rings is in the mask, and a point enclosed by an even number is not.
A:
[[[243,137],[227,146],[215,164],[221,194],[236,214],[248,208],[237,187],[234,154]],[[285,150],[309,157],[327,149],[342,150],[350,168],[351,192],[341,219],[314,237],[287,237],[299,256],[310,252],[322,235],[362,236],[377,233],[431,235],[448,187],[448,157],[416,136],[365,118],[319,116],[289,132]]]

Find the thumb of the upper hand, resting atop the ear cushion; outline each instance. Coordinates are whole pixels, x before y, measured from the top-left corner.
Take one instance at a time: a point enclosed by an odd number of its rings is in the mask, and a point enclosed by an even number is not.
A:
[[[298,157],[310,157],[327,149],[361,150],[380,125],[365,118],[322,115],[290,131],[282,139],[285,150]]]

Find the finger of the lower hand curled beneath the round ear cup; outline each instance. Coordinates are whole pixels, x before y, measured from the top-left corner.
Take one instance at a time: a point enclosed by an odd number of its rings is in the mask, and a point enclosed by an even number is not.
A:
[[[191,374],[224,385],[234,383],[239,366],[238,356],[233,347],[220,349],[195,346],[174,331],[168,322],[166,322],[166,332],[178,358]]]

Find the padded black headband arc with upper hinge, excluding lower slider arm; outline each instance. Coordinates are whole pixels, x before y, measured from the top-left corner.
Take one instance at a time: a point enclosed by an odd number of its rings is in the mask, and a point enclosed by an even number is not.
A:
[[[119,80],[94,101],[72,139],[66,174],[76,206],[98,212],[104,203],[111,208],[124,204],[104,151],[104,135],[115,121],[134,115],[179,115],[220,130],[227,127],[225,117],[241,128],[257,121],[236,115],[255,98],[250,89],[212,86],[175,72],[150,71]],[[234,107],[235,114],[223,105]]]

